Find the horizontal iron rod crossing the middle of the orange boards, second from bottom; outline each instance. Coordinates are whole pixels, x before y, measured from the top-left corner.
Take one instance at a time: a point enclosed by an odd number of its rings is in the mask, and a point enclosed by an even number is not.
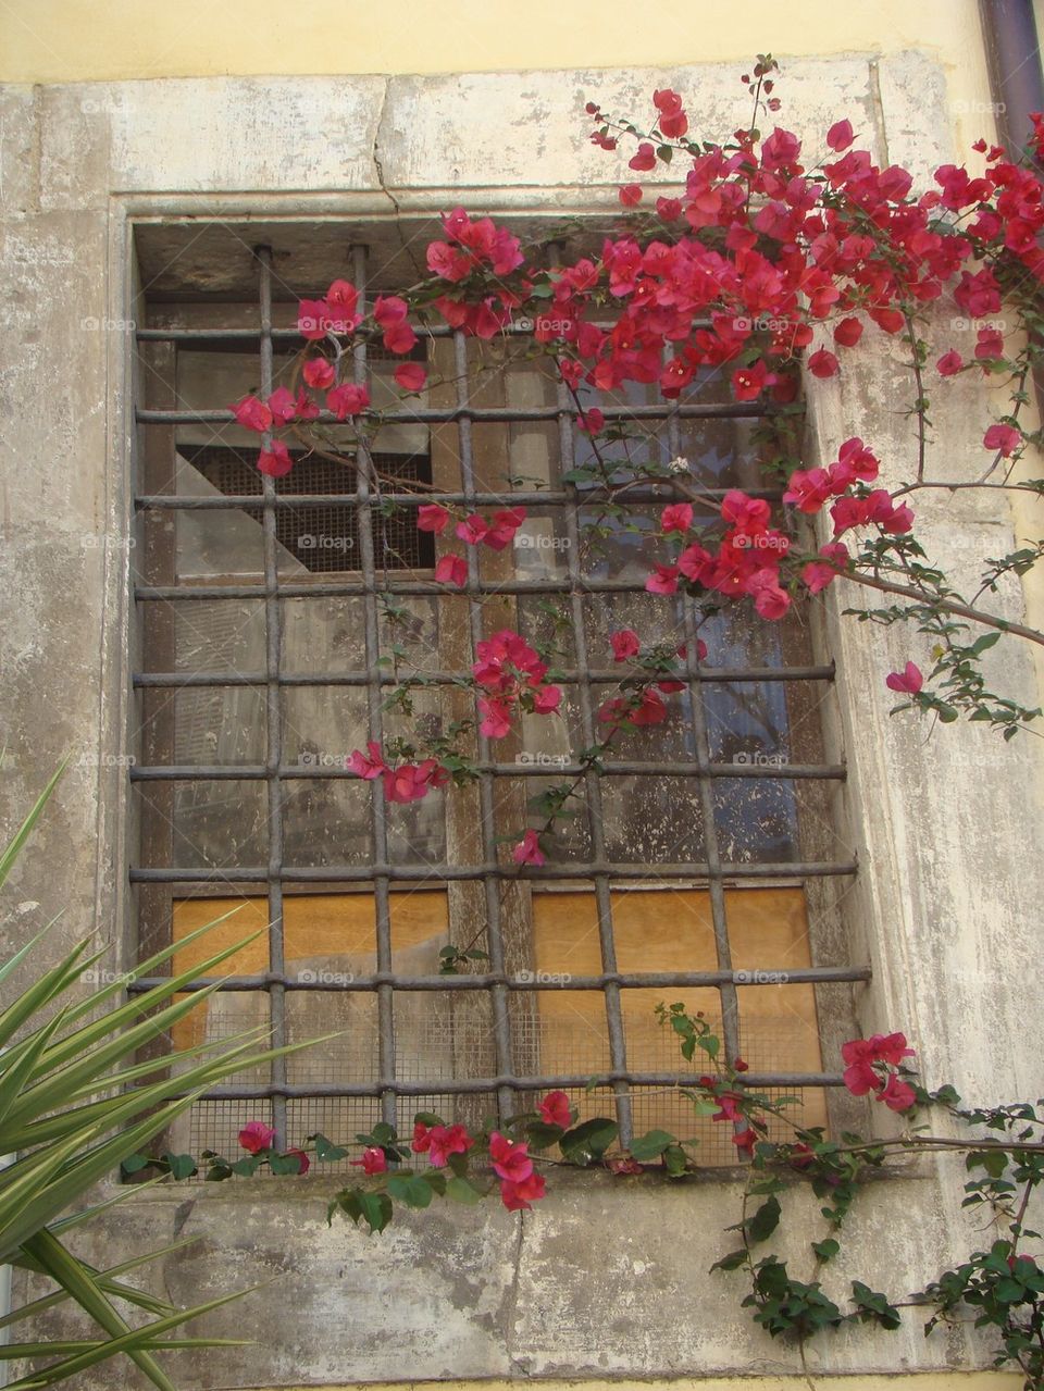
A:
[[[303,968],[307,970],[307,968]],[[313,975],[323,972],[313,971]],[[751,971],[648,971],[641,975],[634,972],[612,971],[602,975],[566,975],[557,979],[555,972],[544,975],[553,979],[541,979],[541,972],[519,972],[516,975],[496,974],[487,971],[482,975],[396,975],[393,971],[377,971],[371,975],[349,976],[346,972],[329,970],[325,972],[329,979],[311,981],[302,979],[302,974],[286,975],[267,971],[264,975],[234,975],[218,979],[215,976],[200,976],[183,985],[182,990],[206,990],[217,986],[218,990],[267,990],[271,986],[282,986],[286,990],[329,990],[364,993],[375,990],[378,985],[391,985],[396,990],[488,990],[494,985],[505,985],[509,990],[602,990],[606,985],[619,985],[626,990],[674,990],[692,989],[717,985],[738,986],[767,986],[767,985],[822,985],[837,981],[869,981],[869,967],[802,967],[794,970],[763,970]],[[170,976],[143,975],[136,981],[128,981],[129,995],[145,995],[157,986],[170,985]]]

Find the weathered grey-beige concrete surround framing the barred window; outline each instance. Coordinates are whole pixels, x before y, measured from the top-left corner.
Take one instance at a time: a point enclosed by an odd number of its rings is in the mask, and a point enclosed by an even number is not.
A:
[[[8,944],[61,907],[65,940],[122,931],[131,341],[111,325],[131,317],[128,217],[386,213],[381,175],[405,209],[612,204],[623,161],[585,143],[584,102],[633,110],[667,77],[692,93],[698,129],[727,131],[747,114],[734,70],[717,67],[3,92],[7,819],[64,753],[86,755],[19,868],[8,903],[24,908],[4,924]],[[791,63],[785,121],[824,131],[849,114],[879,154],[927,177],[952,156],[933,134],[944,128],[931,118],[944,92],[944,75],[917,54]],[[816,447],[830,458],[862,434],[904,477],[895,363],[880,341],[848,362],[838,384],[810,384]],[[936,412],[948,460],[974,466],[983,409],[973,387],[949,388]],[[920,510],[948,561],[981,537],[1000,554],[1011,536],[1004,509],[947,501]],[[916,1038],[933,1084],[952,1078],[976,1100],[1036,1096],[1038,741],[1002,748],[962,725],[926,743],[922,725],[890,721],[881,673],[919,655],[916,641],[838,622],[845,602],[854,598],[831,594],[826,612],[863,864],[848,907],[856,954],[874,967],[862,1017],[867,1029]],[[998,602],[1015,613],[1022,597],[1012,588]],[[1005,643],[997,659],[1029,698],[1029,658]],[[47,950],[61,940],[56,933]],[[734,1182],[621,1192],[603,1177],[570,1175],[534,1214],[406,1216],[374,1241],[325,1225],[329,1191],[316,1180],[142,1195],[81,1246],[111,1264],[146,1242],[199,1232],[199,1246],[154,1273],[157,1288],[186,1302],[279,1276],[206,1320],[257,1345],[200,1356],[183,1376],[200,1387],[797,1370],[792,1349],[741,1317],[738,1277],[705,1280],[728,1242],[720,1228],[735,1212]],[[976,1244],[958,1198],[958,1175],[944,1166],[880,1184],[854,1219],[865,1278],[915,1288],[947,1252]],[[795,1269],[802,1260],[795,1252]],[[987,1365],[963,1334],[926,1342],[916,1324],[891,1340],[852,1331],[817,1356],[835,1373]],[[110,1376],[85,1385],[111,1385]]]

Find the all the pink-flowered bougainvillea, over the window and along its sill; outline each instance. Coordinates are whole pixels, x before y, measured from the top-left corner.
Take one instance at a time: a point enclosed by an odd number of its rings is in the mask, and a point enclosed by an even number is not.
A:
[[[981,490],[998,501],[1044,494],[1033,466],[1041,433],[1026,421],[1034,373],[1044,363],[1044,115],[1034,115],[1031,143],[1020,154],[977,140],[973,168],[943,166],[931,188],[915,192],[906,170],[881,168],[859,147],[859,132],[847,120],[816,132],[813,147],[826,156],[813,163],[797,135],[774,125],[776,67],[763,56],[744,78],[753,102],[751,124],[720,143],[691,134],[683,97],[669,89],[653,93],[644,124],[589,104],[591,139],[607,152],[633,149],[635,175],[620,188],[620,220],[601,249],[581,241],[570,255],[566,239],[549,259],[546,246],[524,248],[489,217],[453,209],[442,218],[443,235],[427,248],[430,274],[409,291],[367,303],[353,284],[335,280],[321,298],[302,300],[306,348],[292,389],[281,387],[267,401],[246,396],[232,408],[235,417],[263,437],[263,474],[281,477],[293,467],[291,444],[343,458],[328,427],[349,421],[366,442],[386,415],[371,401],[353,352],[357,344],[380,345],[402,359],[393,373],[395,408],[402,409],[430,385],[427,367],[410,360],[425,327],[450,325],[488,341],[528,320],[532,351],[553,364],[591,444],[591,462],[563,481],[580,490],[598,485],[617,520],[627,516],[635,484],[663,490],[652,530],[637,513],[630,522],[645,529],[653,556],[645,583],[651,602],[681,591],[705,615],[747,605],[773,623],[795,601],[831,586],[844,584],[848,602],[863,591],[872,598],[847,612],[881,625],[908,623],[922,634],[919,661],[881,672],[881,682],[902,697],[895,711],[915,708],[944,723],[965,715],[1011,739],[1041,711],[995,694],[983,658],[1001,638],[1044,644],[1044,633],[1000,616],[987,597],[1030,570],[1044,555],[1044,541],[981,556],[977,591],[969,595],[919,538],[916,505],[919,495],[958,490]],[[773,128],[762,131],[763,122]],[[651,177],[656,174],[663,182]],[[961,330],[940,313],[944,302],[959,310]],[[969,325],[970,349],[954,341]],[[909,458],[887,456],[883,467],[881,455],[892,447],[852,435],[833,459],[810,462],[799,431],[802,373],[813,380],[844,374],[847,355],[874,339],[892,345],[892,360],[898,348],[908,369]],[[628,383],[656,385],[670,401],[708,371],[727,377],[737,402],[769,408],[760,428],[760,490],[708,494],[688,460],[651,462],[645,451],[631,448],[641,444],[638,427],[603,409],[606,394]],[[980,421],[981,469],[974,477],[948,473],[933,449],[930,415],[931,402],[969,376],[991,388],[980,396],[983,410],[987,402],[1004,401]],[[367,449],[343,459],[371,470],[367,481],[380,498],[385,480],[368,460]],[[770,490],[781,494],[781,506],[752,495]],[[525,509],[513,505],[510,490],[488,513],[434,499],[417,508],[418,529],[441,538],[435,581],[446,593],[473,593],[477,601],[468,551],[503,551],[524,523]],[[391,612],[391,595],[386,602]],[[663,723],[667,701],[708,657],[702,638],[678,647],[644,641],[634,629],[612,632],[609,648],[621,680],[619,694],[598,711],[601,736],[581,755],[585,772],[598,772],[620,732]],[[474,657],[470,723],[457,722],[452,733],[438,736],[417,729],[416,737],[370,741],[350,755],[349,768],[389,801],[417,801],[467,780],[466,744],[475,730],[500,740],[523,715],[559,718],[562,691],[549,654],[524,634],[510,627],[491,632]],[[403,679],[389,705],[409,716],[418,683]],[[539,826],[520,828],[513,837],[520,869],[544,864],[546,833],[569,796],[569,785],[545,793]],[[481,956],[446,947],[441,968],[456,971]],[[708,1060],[706,1075],[684,1088],[695,1114],[728,1125],[737,1159],[747,1164],[740,1244],[716,1266],[745,1273],[744,1305],[762,1328],[804,1345],[820,1330],[851,1321],[895,1328],[904,1303],[923,1306],[927,1333],[940,1321],[970,1316],[994,1331],[998,1366],[1015,1363],[1027,1385],[1044,1384],[1044,1273],[1023,1249],[1026,1239],[1041,1239],[1025,1221],[1044,1177],[1037,1107],[961,1109],[951,1088],[929,1093],[920,1086],[902,1034],[874,1035],[845,1045],[844,1082],[899,1116],[904,1128],[888,1139],[833,1138],[791,1124],[785,1099],[745,1086],[745,1064],[721,1060],[720,1042],[702,1017],[681,1004],[660,1014],[680,1036],[687,1061],[698,1054]],[[926,1132],[920,1117],[933,1107],[976,1135]],[[790,1127],[783,1141],[781,1127]],[[245,1127],[239,1141],[243,1153],[236,1157],[207,1153],[197,1164],[190,1156],[136,1156],[128,1167],[221,1180],[261,1168],[304,1173],[310,1153],[320,1163],[350,1153],[321,1135],[278,1153],[274,1132],[261,1123]],[[541,1170],[550,1164],[602,1166],[628,1181],[655,1171],[677,1182],[696,1164],[694,1142],[664,1131],[621,1149],[614,1121],[577,1124],[562,1092],[541,1097],[534,1111],[474,1132],[420,1113],[413,1135],[400,1136],[382,1123],[356,1142],[360,1153],[350,1163],[360,1177],[336,1195],[331,1217],[342,1212],[371,1232],[388,1225],[396,1203],[423,1209],[442,1196],[477,1203],[492,1193],[509,1210],[527,1210],[544,1196]],[[895,1155],[943,1149],[963,1149],[972,1174],[965,1202],[988,1209],[997,1239],[904,1301],[852,1280],[849,1308],[842,1309],[820,1277],[837,1259],[862,1180]],[[425,1157],[427,1167],[417,1167]],[[805,1280],[770,1252],[787,1192],[798,1184],[812,1185],[824,1221],[810,1244]]]

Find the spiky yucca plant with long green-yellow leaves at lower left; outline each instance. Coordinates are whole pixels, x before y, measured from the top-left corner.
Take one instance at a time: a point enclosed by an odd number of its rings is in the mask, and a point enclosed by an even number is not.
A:
[[[0,887],[60,776],[61,769],[0,854]],[[211,926],[214,924],[182,938],[177,947],[183,949]],[[44,928],[0,967],[0,988],[31,957],[47,931]],[[11,1383],[8,1391],[49,1387],[120,1355],[131,1358],[153,1385],[175,1391],[154,1353],[229,1344],[229,1340],[174,1338],[172,1334],[190,1319],[249,1291],[178,1309],[122,1280],[129,1270],[186,1242],[97,1270],[72,1255],[64,1235],[135,1192],[127,1188],[107,1202],[70,1214],[95,1182],[165,1129],[207,1088],[240,1068],[292,1052],[259,1050],[264,1031],[254,1029],[222,1040],[220,1046],[202,1045],[167,1053],[161,1060],[133,1061],[138,1049],[174,1028],[215,989],[211,986],[178,1000],[185,985],[195,976],[214,972],[253,936],[127,1000],[121,999],[127,979],[154,972],[175,947],[157,951],[125,976],[83,999],[71,993],[72,986],[104,951],[92,951],[88,942],[81,942],[0,1010],[0,1156],[8,1156],[7,1166],[0,1168],[0,1264],[46,1276],[57,1287],[53,1294],[0,1317],[0,1328],[10,1328],[65,1299],[75,1301],[97,1326],[97,1335],[92,1338],[0,1345],[0,1358],[8,1360],[54,1358],[43,1370]],[[111,1006],[106,1008],[108,1002]],[[131,1326],[114,1299],[136,1306],[147,1320]],[[234,1341],[234,1345],[240,1344]]]

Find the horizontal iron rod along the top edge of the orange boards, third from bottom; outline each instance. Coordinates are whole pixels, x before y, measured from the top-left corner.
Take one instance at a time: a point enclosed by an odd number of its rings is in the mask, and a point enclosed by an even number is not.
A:
[[[721,879],[815,879],[854,875],[856,872],[855,860],[784,860],[760,862],[728,862],[723,864],[719,872]],[[285,867],[282,878],[286,883],[370,883],[378,876],[400,883],[439,883],[442,881],[470,881],[482,879],[488,875],[506,876],[532,881],[557,879],[591,879],[594,875],[609,875],[613,879],[708,879],[710,878],[706,864],[691,860],[688,862],[671,864],[619,864],[594,861],[588,864],[520,865],[517,869],[507,869],[502,864],[482,865],[297,865]],[[199,867],[178,867],[163,869],[131,869],[132,883],[264,883],[268,871],[257,865],[222,865],[220,869]]]

